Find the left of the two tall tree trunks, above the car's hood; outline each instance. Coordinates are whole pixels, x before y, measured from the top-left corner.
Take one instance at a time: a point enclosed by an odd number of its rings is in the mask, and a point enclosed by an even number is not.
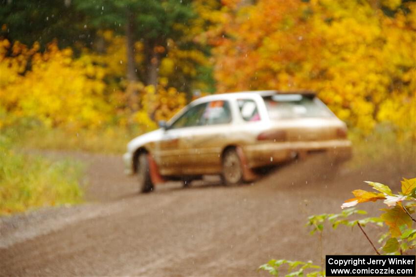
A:
[[[134,50],[134,30],[133,20],[130,12],[127,12],[127,23],[126,23],[126,48],[127,48],[127,89],[128,94],[128,106],[132,112],[139,109],[138,102],[138,90],[137,82],[139,78],[136,74],[136,63],[135,63],[135,50]]]

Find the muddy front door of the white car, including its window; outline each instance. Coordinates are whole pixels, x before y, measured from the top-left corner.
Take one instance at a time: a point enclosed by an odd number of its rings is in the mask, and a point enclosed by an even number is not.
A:
[[[188,166],[188,149],[186,143],[189,129],[201,125],[202,114],[207,103],[190,106],[185,113],[168,126],[161,140],[157,143],[156,160],[162,175],[182,175]]]

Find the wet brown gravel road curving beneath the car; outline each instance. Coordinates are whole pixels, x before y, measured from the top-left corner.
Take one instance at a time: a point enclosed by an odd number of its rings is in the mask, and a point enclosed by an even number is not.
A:
[[[368,188],[365,180],[398,189],[402,177],[416,175],[411,159],[406,166],[342,167],[333,176],[331,165],[315,156],[239,187],[206,180],[139,195],[119,156],[49,155],[89,165],[87,202],[1,218],[1,276],[265,276],[256,269],[271,258],[320,264],[319,239],[309,235],[307,216],[340,212],[351,190]],[[374,238],[381,232],[366,230]],[[372,250],[359,229],[326,226],[323,253]]]

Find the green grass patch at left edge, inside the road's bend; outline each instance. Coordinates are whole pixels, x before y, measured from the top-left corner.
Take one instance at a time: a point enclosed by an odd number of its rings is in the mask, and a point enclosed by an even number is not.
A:
[[[0,150],[0,215],[82,201],[81,163],[19,153],[4,135]]]

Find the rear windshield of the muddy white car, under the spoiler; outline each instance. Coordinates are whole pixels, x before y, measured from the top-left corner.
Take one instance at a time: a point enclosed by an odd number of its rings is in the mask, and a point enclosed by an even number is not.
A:
[[[276,94],[263,99],[271,119],[334,116],[322,101],[310,95]]]

